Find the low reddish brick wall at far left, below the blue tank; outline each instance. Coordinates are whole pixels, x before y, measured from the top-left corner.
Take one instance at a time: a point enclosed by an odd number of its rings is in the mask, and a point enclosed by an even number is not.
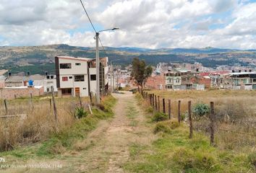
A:
[[[40,89],[36,89],[34,87],[28,88],[3,88],[0,89],[0,99],[14,99],[15,96],[19,97],[30,97],[30,93],[33,96],[43,95],[43,86]]]

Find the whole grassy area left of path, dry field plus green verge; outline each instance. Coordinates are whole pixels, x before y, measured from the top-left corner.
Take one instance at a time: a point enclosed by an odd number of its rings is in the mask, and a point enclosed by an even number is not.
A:
[[[76,108],[80,107],[80,100],[76,97],[57,98],[58,132],[49,98],[35,97],[32,102],[27,98],[8,102],[8,115],[25,114],[27,117],[24,120],[20,120],[20,117],[0,119],[0,151],[11,151],[1,155],[16,155],[23,150],[22,146],[34,147],[34,143],[41,141],[43,143],[31,150],[36,155],[60,154],[62,150],[72,147],[76,140],[85,138],[86,132],[95,128],[99,120],[113,116],[111,107],[116,100],[111,96],[104,98],[100,108],[93,107],[93,115],[77,120],[74,115]],[[87,104],[88,98],[82,98],[82,106],[86,111],[88,111]],[[4,115],[4,112],[4,107],[1,107],[1,115]],[[29,156],[29,154],[25,155]]]

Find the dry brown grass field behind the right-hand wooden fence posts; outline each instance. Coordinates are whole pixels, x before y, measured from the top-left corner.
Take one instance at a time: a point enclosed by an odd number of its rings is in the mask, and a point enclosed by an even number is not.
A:
[[[210,102],[215,104],[216,112],[216,144],[222,149],[234,151],[255,152],[256,147],[256,91],[231,91],[231,90],[208,90],[208,91],[152,91],[166,99],[171,99],[171,116],[177,117],[178,101],[182,101],[181,112],[187,115],[188,101],[193,105]],[[161,110],[162,111],[162,110]],[[195,130],[209,132],[210,120],[202,117],[194,120]]]

